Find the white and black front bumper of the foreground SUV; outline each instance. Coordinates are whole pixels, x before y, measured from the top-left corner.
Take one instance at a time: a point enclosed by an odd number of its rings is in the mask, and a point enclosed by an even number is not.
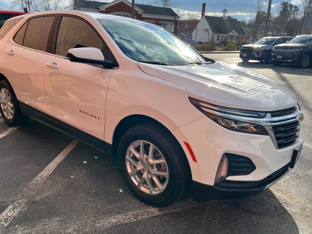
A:
[[[245,134],[225,129],[208,117],[199,118],[172,132],[188,157],[197,201],[226,199],[258,194],[286,175],[299,155],[303,141],[276,149],[269,136]],[[184,142],[193,149],[192,159]],[[255,166],[248,175],[231,175],[215,184],[222,155],[249,158]],[[230,161],[229,161],[230,163]]]

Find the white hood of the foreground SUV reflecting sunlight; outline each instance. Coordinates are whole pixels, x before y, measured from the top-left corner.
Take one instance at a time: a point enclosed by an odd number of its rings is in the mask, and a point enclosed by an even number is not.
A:
[[[189,97],[219,106],[266,112],[290,108],[297,103],[292,92],[272,79],[223,62],[137,65],[144,73],[183,86]]]

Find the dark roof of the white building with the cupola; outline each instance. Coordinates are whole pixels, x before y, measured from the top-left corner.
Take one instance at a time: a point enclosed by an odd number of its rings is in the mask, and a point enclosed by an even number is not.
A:
[[[228,34],[234,30],[238,35],[245,35],[243,29],[240,26],[240,23],[236,19],[227,18],[224,20],[222,17],[204,17],[207,20],[213,33]]]

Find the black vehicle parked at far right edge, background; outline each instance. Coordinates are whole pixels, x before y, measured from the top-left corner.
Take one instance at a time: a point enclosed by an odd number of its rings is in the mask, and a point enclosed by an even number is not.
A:
[[[296,64],[300,68],[311,65],[312,59],[312,35],[297,36],[289,43],[275,45],[272,51],[272,63],[274,66],[282,63]]]

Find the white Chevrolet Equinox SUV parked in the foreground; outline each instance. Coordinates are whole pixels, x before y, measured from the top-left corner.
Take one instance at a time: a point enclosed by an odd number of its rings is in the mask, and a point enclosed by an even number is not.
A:
[[[105,14],[51,11],[0,31],[0,113],[116,156],[153,206],[256,194],[292,168],[303,114],[260,74],[207,59],[168,31]]]

